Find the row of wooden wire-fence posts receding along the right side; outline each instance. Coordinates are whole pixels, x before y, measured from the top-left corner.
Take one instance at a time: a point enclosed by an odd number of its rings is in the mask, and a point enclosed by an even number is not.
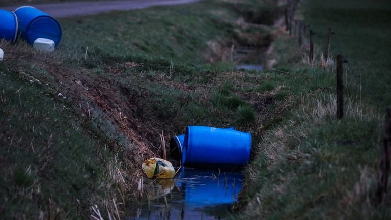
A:
[[[326,41],[326,49],[323,53],[325,62],[327,64],[328,59],[331,59],[330,55],[330,44],[331,40],[334,42],[336,46],[338,55],[336,56],[337,65],[336,65],[336,73],[337,73],[337,118],[342,119],[343,117],[343,64],[346,66],[346,74],[345,81],[346,84],[353,83],[359,85],[359,93],[360,93],[360,105],[362,108],[362,88],[364,88],[366,94],[370,97],[372,102],[376,103],[376,105],[383,109],[386,112],[385,118],[385,129],[383,134],[383,153],[380,159],[379,166],[379,179],[377,185],[377,198],[379,204],[385,203],[387,185],[388,185],[388,175],[390,171],[390,161],[391,161],[391,108],[389,106],[385,106],[380,100],[379,96],[367,86],[366,81],[362,79],[361,72],[357,70],[357,66],[353,60],[346,59],[343,56],[344,51],[342,50],[340,44],[340,37],[344,37],[341,33],[334,33],[332,29],[329,28],[328,32],[321,32],[319,30],[307,30],[309,25],[306,24],[303,20],[295,19],[295,11],[298,8],[300,0],[287,0],[287,4],[285,6],[285,25],[286,32],[289,32],[289,35],[297,39],[298,45],[302,50],[309,50],[309,58],[310,63],[314,62],[314,46],[313,46],[313,37],[318,39],[324,39]],[[294,25],[294,28],[293,28]],[[310,37],[310,45],[308,45],[308,36]],[[332,38],[331,38],[332,37]],[[359,72],[359,73],[358,73]],[[348,80],[349,78],[349,80]],[[342,111],[342,112],[341,112]]]

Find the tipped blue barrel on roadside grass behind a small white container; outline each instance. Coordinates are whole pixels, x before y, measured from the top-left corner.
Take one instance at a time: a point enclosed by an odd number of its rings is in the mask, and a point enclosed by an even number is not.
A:
[[[32,45],[37,38],[52,40],[56,47],[60,44],[61,26],[50,15],[31,6],[17,8],[15,14],[18,17],[20,36],[29,44]]]

